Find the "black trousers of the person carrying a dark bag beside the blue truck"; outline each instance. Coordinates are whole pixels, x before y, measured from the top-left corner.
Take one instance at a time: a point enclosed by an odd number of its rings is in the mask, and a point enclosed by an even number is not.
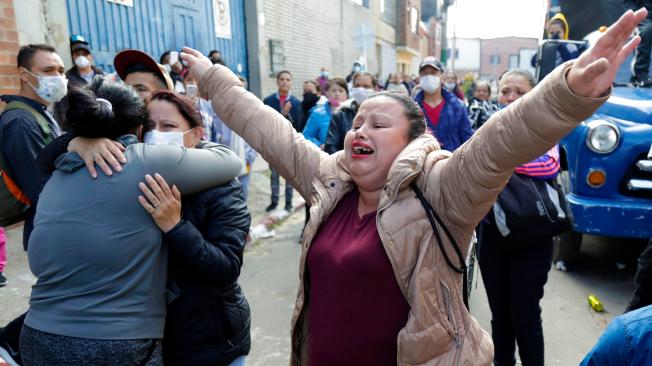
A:
[[[515,365],[518,343],[524,366],[544,366],[539,302],[552,262],[552,238],[532,238],[527,247],[505,249],[494,223],[480,226],[478,263],[491,309],[494,365]]]

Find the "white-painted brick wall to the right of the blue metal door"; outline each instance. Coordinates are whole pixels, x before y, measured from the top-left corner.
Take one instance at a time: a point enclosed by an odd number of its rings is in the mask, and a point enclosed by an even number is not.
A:
[[[263,97],[277,89],[271,73],[270,39],[283,41],[285,69],[294,76],[292,92],[297,96],[303,94],[303,82],[318,77],[321,67],[327,67],[331,76],[346,77],[365,50],[367,70],[378,71],[372,9],[351,0],[305,0],[264,1],[262,10],[257,61],[250,62],[260,63]]]

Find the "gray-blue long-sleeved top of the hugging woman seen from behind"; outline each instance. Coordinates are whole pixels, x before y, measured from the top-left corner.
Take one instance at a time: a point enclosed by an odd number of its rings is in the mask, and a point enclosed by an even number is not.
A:
[[[138,182],[160,173],[184,194],[236,177],[240,159],[228,148],[185,149],[119,139],[128,163],[121,173],[91,179],[67,153],[41,193],[28,258],[37,282],[28,326],[90,339],[162,338],[167,249],[138,202]]]

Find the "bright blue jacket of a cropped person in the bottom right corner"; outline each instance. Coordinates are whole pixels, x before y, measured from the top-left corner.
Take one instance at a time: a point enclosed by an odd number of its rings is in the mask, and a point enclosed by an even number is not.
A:
[[[652,365],[652,305],[614,319],[580,366]]]

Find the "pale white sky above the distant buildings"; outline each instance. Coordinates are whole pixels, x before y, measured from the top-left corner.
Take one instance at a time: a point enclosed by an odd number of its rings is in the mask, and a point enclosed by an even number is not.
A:
[[[543,30],[547,0],[455,0],[448,33],[458,38],[532,37]]]

